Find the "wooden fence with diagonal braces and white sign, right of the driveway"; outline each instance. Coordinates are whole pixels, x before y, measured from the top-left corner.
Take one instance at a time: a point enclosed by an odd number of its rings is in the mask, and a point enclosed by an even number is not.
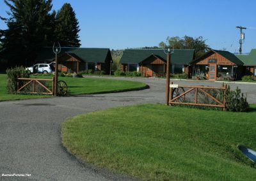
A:
[[[226,90],[227,85],[223,87],[206,87],[177,85],[170,82],[169,105],[211,106],[216,108],[223,108],[225,111]],[[219,98],[216,98],[216,92],[218,92]],[[188,96],[188,94],[190,95]],[[201,96],[200,100],[198,100],[198,94]]]

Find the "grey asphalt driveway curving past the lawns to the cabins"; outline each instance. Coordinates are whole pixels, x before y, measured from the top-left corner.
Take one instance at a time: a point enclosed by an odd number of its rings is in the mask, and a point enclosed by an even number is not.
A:
[[[140,103],[164,103],[165,80],[117,78],[145,82],[143,91],[66,98],[0,102],[0,180],[136,180],[81,163],[61,145],[61,122],[85,112]],[[213,82],[180,82],[182,85],[216,85]],[[256,103],[255,84],[234,84]],[[2,174],[31,174],[3,177]]]

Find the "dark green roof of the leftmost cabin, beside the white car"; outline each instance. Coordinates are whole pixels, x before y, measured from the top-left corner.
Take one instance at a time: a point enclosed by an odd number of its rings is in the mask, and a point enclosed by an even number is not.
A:
[[[72,55],[84,62],[105,62],[108,54],[111,56],[109,48],[61,48],[58,57],[64,54]],[[54,59],[55,54],[51,47],[42,48],[40,54],[36,57],[36,61],[54,61]]]

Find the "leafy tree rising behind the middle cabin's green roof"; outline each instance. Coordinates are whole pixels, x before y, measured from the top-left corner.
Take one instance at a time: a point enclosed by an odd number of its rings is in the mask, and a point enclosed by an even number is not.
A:
[[[179,36],[167,37],[166,42],[170,43],[175,49],[195,49],[195,58],[200,57],[205,54],[205,52],[211,50],[211,48],[205,44],[205,40],[202,36],[198,38],[193,38],[191,36],[184,36],[179,38]],[[161,41],[159,47],[163,48],[165,43]]]

